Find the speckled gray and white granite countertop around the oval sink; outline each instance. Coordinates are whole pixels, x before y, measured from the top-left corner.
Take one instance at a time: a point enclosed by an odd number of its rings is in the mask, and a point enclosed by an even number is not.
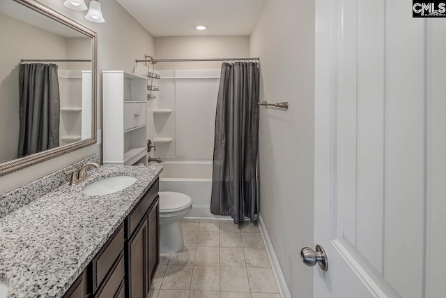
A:
[[[105,165],[0,219],[0,278],[8,297],[62,297],[152,186],[162,167]],[[87,196],[105,177],[138,180],[123,191]]]

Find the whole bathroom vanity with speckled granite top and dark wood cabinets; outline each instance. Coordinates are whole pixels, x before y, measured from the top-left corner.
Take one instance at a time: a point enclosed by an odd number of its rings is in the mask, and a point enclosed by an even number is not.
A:
[[[2,195],[0,205],[38,194],[67,170]],[[0,278],[8,283],[8,297],[147,297],[160,256],[161,171],[102,166],[76,186],[64,175],[62,185],[3,216]],[[119,176],[137,180],[107,195],[83,193]]]

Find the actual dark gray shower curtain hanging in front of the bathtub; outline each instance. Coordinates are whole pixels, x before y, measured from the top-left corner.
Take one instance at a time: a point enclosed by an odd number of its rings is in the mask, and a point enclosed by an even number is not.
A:
[[[257,214],[256,165],[259,147],[259,66],[222,64],[215,117],[210,211],[235,223]]]

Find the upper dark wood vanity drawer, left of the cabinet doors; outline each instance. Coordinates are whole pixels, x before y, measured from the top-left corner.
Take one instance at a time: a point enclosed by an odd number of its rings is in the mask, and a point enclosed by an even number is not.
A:
[[[104,281],[107,272],[112,268],[124,248],[124,228],[121,225],[102,250],[93,259],[93,293]]]

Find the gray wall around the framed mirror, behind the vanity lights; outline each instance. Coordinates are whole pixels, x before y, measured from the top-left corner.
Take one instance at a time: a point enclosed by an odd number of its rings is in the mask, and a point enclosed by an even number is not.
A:
[[[98,33],[98,129],[102,123],[102,70],[125,70],[132,72],[134,59],[144,59],[144,54],[153,54],[153,36],[127,13],[116,0],[102,1],[105,23],[95,24],[85,20],[86,12],[70,10],[63,1],[40,0],[46,6],[70,17],[75,22]],[[89,1],[86,1],[87,5]],[[0,52],[1,57],[1,52]],[[0,128],[3,129],[3,128]],[[91,145],[70,154],[53,158],[19,172],[0,177],[0,193],[38,179],[66,165],[80,161],[100,152],[101,147]]]

